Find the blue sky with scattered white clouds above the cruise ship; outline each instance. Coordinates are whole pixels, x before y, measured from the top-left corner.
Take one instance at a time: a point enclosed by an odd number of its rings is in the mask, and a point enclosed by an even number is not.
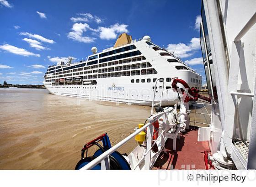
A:
[[[201,0],[0,0],[0,83],[42,84],[49,65],[145,35],[203,76]],[[74,62],[74,61],[73,61]]]

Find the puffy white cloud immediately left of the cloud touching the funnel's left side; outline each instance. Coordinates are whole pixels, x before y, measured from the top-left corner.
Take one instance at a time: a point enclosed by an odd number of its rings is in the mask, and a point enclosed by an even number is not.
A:
[[[72,31],[68,34],[68,38],[84,43],[94,42],[96,38],[83,36],[83,33],[89,28],[90,26],[87,23],[75,23],[72,27]]]

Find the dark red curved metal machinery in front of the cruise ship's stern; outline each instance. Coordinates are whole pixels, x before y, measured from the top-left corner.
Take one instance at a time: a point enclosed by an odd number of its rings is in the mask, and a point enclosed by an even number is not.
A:
[[[188,84],[186,83],[186,81],[180,79],[180,78],[172,78],[172,83],[171,83],[171,87],[174,88],[176,90],[176,92],[178,92],[178,86],[177,86],[177,83],[181,83],[185,88],[188,88],[188,94],[190,94],[191,96],[193,97],[189,97],[188,95],[186,96],[186,99],[185,99],[185,102],[187,103],[188,101],[197,101],[198,98],[200,99],[203,99],[209,103],[211,103],[211,98],[208,98],[208,97],[205,97],[201,94],[198,94],[199,93],[199,90],[197,88],[190,88],[188,86]],[[182,94],[184,94],[185,90],[180,88],[181,89],[181,92]]]

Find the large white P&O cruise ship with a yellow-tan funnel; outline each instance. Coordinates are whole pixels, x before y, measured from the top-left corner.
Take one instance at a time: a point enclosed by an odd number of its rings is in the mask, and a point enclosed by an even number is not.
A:
[[[114,47],[97,52],[86,60],[59,62],[49,66],[43,84],[51,94],[128,104],[151,105],[155,81],[155,101],[173,105],[178,94],[171,88],[171,78],[179,77],[190,87],[201,89],[202,77],[171,52],[155,45],[149,36],[132,40],[123,33]],[[182,88],[182,85],[180,85]],[[164,89],[162,93],[162,89]],[[162,93],[162,94],[160,94]]]

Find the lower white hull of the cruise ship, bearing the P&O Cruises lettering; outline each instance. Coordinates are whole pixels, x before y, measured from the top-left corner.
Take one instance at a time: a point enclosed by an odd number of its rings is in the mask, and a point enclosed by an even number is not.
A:
[[[136,77],[134,76],[134,79]],[[147,76],[147,78],[152,80],[155,77]],[[188,76],[187,78],[181,78],[187,80]],[[44,83],[44,85],[51,94],[55,95],[151,106],[155,83],[131,83],[130,79],[119,77],[97,79],[97,85],[53,86],[47,83]],[[172,88],[169,87],[171,87],[171,82],[165,82],[162,99],[162,105],[164,106],[174,105],[179,101],[177,92],[173,92]],[[160,93],[161,88],[157,88],[156,102],[160,101]]]

